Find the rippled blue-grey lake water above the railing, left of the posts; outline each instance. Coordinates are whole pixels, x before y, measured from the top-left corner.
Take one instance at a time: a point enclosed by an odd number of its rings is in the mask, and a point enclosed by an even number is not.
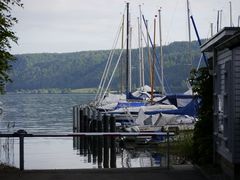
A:
[[[72,107],[91,101],[91,94],[11,94],[0,96],[3,117],[0,130],[28,133],[72,132]]]

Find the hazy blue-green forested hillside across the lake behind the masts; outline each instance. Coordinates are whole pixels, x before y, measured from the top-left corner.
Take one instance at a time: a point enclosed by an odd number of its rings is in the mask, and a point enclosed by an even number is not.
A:
[[[144,51],[147,52],[147,49]],[[192,68],[189,61],[188,43],[174,42],[164,46],[163,51],[164,75],[167,82],[166,86],[169,87],[168,91],[182,92],[186,90],[185,81]],[[119,52],[118,50],[114,55],[111,70],[114,69]],[[196,42],[192,42],[191,52],[193,67],[196,67],[200,59],[200,50]],[[105,50],[16,55],[11,72],[13,83],[8,84],[7,91],[98,87],[109,53],[109,50]],[[159,55],[159,48],[157,48],[157,54]],[[137,49],[132,50],[132,64],[132,84],[133,87],[138,87]],[[157,64],[157,66],[159,65]],[[147,53],[145,53],[145,70],[146,84],[149,84]],[[112,90],[117,90],[120,87],[120,79],[120,68],[118,68],[111,84]],[[157,79],[156,82],[156,86],[159,86]]]

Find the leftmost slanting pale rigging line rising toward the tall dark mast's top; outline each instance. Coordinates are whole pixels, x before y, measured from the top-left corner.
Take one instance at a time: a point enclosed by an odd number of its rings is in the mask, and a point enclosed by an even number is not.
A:
[[[124,8],[123,14],[125,13],[125,11],[126,11],[126,7]],[[105,68],[104,68],[104,72],[103,72],[101,81],[100,81],[99,86],[98,86],[98,91],[97,91],[97,94],[96,94],[96,96],[95,96],[95,101],[96,101],[96,100],[98,99],[98,97],[99,97],[100,89],[102,88],[103,79],[104,79],[105,76],[106,76],[106,69],[107,69],[107,67],[108,67],[108,65],[109,65],[110,57],[112,56],[112,52],[113,52],[113,50],[115,50],[115,47],[116,47],[116,43],[117,43],[116,41],[117,41],[117,39],[118,39],[118,38],[117,38],[117,36],[118,36],[117,34],[119,33],[119,31],[121,31],[121,28],[122,28],[122,22],[123,22],[123,20],[120,22],[118,31],[117,31],[117,33],[116,33],[116,35],[115,35],[115,39],[114,39],[114,41],[113,41],[113,46],[112,46],[112,49],[111,49],[110,54],[109,54],[109,56],[108,56],[108,60],[107,60],[106,66],[105,66]]]

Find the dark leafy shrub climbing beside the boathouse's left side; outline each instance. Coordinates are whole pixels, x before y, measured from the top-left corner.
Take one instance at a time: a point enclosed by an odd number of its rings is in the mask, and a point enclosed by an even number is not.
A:
[[[193,161],[199,165],[213,162],[213,78],[204,67],[191,71],[193,91],[201,97],[199,121],[193,134]]]

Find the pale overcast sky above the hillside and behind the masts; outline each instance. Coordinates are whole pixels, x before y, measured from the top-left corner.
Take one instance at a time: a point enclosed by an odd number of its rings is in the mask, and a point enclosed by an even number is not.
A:
[[[74,52],[111,49],[125,7],[124,0],[22,0],[15,8],[19,37],[12,53]],[[186,0],[129,0],[133,25],[133,46],[137,46],[139,5],[149,20],[153,34],[154,15],[162,7],[163,44],[188,39]],[[229,26],[228,0],[190,0],[191,13],[201,38],[216,32],[217,11],[222,10],[222,26]],[[238,25],[240,0],[232,0],[233,24]],[[157,30],[158,31],[158,30]],[[159,39],[159,38],[158,38]],[[192,31],[192,39],[195,34]],[[159,44],[159,43],[158,43]]]

